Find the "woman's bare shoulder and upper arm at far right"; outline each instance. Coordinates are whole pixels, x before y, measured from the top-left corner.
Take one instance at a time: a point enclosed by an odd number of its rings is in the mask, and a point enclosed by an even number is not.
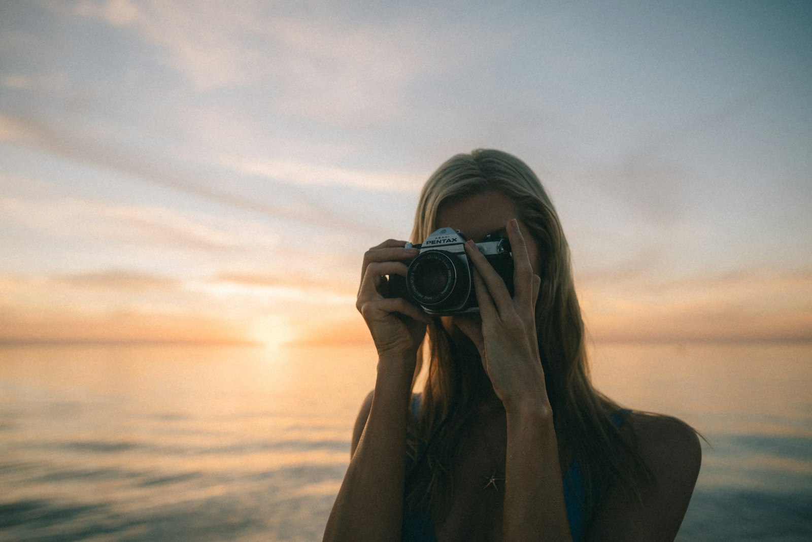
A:
[[[680,530],[702,463],[697,433],[676,418],[633,412],[624,431],[634,433],[653,482],[637,500],[611,488],[590,527],[589,540],[671,542]]]

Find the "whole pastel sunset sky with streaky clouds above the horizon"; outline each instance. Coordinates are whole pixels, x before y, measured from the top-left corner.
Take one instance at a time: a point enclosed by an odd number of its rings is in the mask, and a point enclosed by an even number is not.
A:
[[[448,157],[558,209],[590,337],[812,340],[809,2],[0,0],[0,342],[369,342]]]

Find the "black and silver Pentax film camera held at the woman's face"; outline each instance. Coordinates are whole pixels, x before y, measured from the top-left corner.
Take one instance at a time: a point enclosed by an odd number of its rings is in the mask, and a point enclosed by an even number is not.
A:
[[[434,231],[423,243],[407,243],[407,248],[420,252],[409,264],[405,278],[389,277],[388,297],[402,297],[433,316],[479,312],[473,290],[473,263],[464,244],[464,234],[452,228]],[[513,256],[508,239],[488,234],[477,248],[513,295]]]

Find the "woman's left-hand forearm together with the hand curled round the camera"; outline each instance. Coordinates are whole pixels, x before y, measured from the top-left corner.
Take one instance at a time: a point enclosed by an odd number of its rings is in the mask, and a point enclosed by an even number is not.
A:
[[[364,255],[356,308],[378,349],[378,377],[356,422],[352,458],[335,499],[324,540],[400,540],[408,403],[417,346],[430,323],[404,299],[387,298],[386,275],[406,274],[417,251],[389,240]]]

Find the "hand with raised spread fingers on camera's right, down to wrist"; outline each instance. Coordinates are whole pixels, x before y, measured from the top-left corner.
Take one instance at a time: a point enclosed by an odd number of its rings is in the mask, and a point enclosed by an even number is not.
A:
[[[469,317],[455,320],[477,346],[482,365],[506,410],[529,407],[549,411],[536,335],[535,306],[541,278],[533,273],[516,219],[508,222],[507,230],[513,253],[514,295],[511,297],[502,277],[469,241],[465,252],[474,265],[482,325]]]

